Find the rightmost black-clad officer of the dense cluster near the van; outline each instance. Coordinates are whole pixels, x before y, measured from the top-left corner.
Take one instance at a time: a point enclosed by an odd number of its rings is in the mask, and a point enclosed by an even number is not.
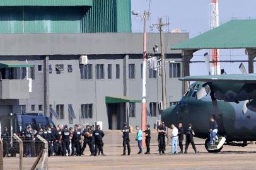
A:
[[[102,153],[102,156],[106,156],[103,154],[103,137],[105,136],[104,132],[100,130],[100,125],[96,126],[96,130],[93,132],[93,137],[95,137],[95,153],[94,156],[97,156],[98,150]]]

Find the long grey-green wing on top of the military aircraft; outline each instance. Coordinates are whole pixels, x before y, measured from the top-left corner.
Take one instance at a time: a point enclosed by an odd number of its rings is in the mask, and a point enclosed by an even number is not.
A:
[[[187,76],[179,79],[180,81],[201,81],[201,82],[240,82],[255,83],[256,74],[222,74],[210,76]]]

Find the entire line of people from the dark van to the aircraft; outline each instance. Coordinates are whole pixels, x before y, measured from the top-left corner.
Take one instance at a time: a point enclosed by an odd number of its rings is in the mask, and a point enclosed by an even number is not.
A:
[[[194,135],[195,132],[192,128],[192,124],[189,123],[189,128],[184,130],[182,123],[178,124],[178,129],[175,125],[172,125],[173,133],[172,139],[176,139],[178,137],[178,144],[180,147],[180,152],[177,152],[177,142],[176,149],[173,150],[172,146],[172,154],[187,154],[187,149],[189,144],[192,144],[192,148],[194,149],[195,153],[198,153],[195,143],[194,143]],[[137,131],[140,129],[137,128]],[[178,132],[176,132],[178,131]],[[160,122],[160,125],[157,127],[158,132],[158,151],[160,154],[165,154],[166,150],[166,143],[165,138],[167,136],[165,122]],[[216,133],[218,132],[218,125],[214,118],[211,117],[210,122],[210,132],[211,132],[211,141],[214,141],[218,137]],[[122,128],[123,133],[123,154],[122,156],[126,155],[126,148],[127,148],[127,155],[131,154],[131,146],[130,146],[130,138],[129,133],[131,133],[131,128],[124,123],[124,127]],[[142,132],[141,132],[142,133]],[[146,125],[146,130],[144,131],[146,137],[146,152],[144,154],[150,154],[150,140],[151,140],[151,130],[150,125]],[[82,131],[81,125],[74,125],[73,127],[68,128],[65,125],[63,128],[61,125],[58,125],[56,128],[52,124],[50,127],[39,127],[38,131],[34,130],[32,132],[32,128],[28,126],[22,133],[21,138],[23,139],[23,147],[24,147],[24,156],[31,157],[31,156],[38,156],[42,149],[44,149],[44,144],[40,141],[37,137],[40,135],[48,142],[49,148],[49,156],[81,156],[86,149],[86,145],[90,148],[90,156],[97,156],[103,153],[103,137],[104,132],[100,130],[100,126],[97,125],[96,129],[93,126],[86,125],[86,128]],[[185,151],[183,152],[183,136],[186,136],[185,141]],[[8,128],[5,127],[3,133],[1,134],[3,139],[3,156],[9,156],[9,147],[10,147],[10,135],[8,132]],[[82,141],[83,139],[83,141]],[[137,139],[137,137],[136,137]],[[218,140],[218,139],[217,139]],[[174,140],[172,140],[173,143]],[[177,140],[175,140],[177,141]],[[70,150],[71,148],[71,150]],[[142,150],[140,150],[138,154],[141,154]]]

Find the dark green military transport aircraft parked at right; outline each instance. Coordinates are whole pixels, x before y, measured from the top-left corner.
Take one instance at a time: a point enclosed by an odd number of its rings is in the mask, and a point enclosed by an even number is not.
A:
[[[189,76],[195,81],[177,105],[163,111],[161,120],[170,125],[189,123],[195,137],[206,139],[208,152],[219,152],[223,145],[245,146],[256,140],[256,74]],[[209,147],[209,118],[216,116],[218,135],[223,141]],[[226,142],[225,142],[226,140]]]

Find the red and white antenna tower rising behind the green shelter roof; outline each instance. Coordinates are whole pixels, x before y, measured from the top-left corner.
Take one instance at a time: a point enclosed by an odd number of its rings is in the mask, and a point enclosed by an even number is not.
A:
[[[209,5],[210,30],[219,26],[219,0],[211,0]],[[212,49],[212,75],[221,74],[221,65],[219,64],[219,50]]]

